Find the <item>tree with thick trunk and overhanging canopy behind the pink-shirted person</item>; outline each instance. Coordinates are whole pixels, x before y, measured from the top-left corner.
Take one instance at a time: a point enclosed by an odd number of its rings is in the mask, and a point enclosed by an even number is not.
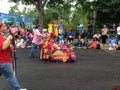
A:
[[[45,7],[56,7],[62,9],[64,3],[74,2],[73,0],[9,0],[15,3],[19,3],[22,1],[27,5],[34,5],[39,12],[39,24],[43,26],[43,18],[44,18],[44,8]]]

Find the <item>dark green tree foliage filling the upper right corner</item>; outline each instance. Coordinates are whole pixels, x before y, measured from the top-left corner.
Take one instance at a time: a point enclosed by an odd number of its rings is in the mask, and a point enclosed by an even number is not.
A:
[[[119,23],[120,20],[120,1],[119,0],[94,0],[91,2],[93,9],[97,11],[97,24],[111,26]]]

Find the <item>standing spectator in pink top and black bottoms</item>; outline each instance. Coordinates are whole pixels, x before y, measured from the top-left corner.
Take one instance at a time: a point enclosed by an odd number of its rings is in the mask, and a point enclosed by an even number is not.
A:
[[[103,46],[106,46],[106,40],[108,39],[107,34],[108,34],[108,28],[106,25],[104,25],[102,29],[102,36],[101,36]]]

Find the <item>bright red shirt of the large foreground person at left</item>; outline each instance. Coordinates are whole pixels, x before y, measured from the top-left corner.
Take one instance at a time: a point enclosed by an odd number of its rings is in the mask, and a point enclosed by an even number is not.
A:
[[[6,50],[2,50],[3,42],[5,39],[0,35],[0,63],[10,63],[11,62],[11,50],[7,48]]]

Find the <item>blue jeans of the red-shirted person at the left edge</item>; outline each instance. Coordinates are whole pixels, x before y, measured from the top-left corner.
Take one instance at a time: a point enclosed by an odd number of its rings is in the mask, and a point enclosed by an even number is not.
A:
[[[13,87],[13,90],[20,90],[20,85],[14,75],[11,63],[0,63],[0,73],[5,76],[6,80]]]

